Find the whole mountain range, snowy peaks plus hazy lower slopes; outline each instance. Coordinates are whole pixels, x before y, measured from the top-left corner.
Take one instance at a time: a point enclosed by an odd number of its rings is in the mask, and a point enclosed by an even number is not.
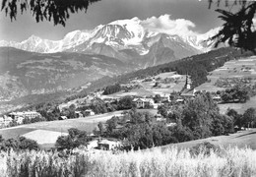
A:
[[[92,30],[74,30],[61,40],[32,35],[0,41],[0,100],[87,86],[104,76],[122,75],[211,50],[204,34],[168,34],[144,28],[138,18]]]

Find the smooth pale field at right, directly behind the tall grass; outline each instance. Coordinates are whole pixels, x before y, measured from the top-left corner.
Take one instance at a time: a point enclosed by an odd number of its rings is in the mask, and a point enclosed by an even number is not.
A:
[[[209,142],[216,146],[221,146],[224,148],[237,147],[237,148],[252,148],[256,150],[256,129],[251,129],[247,131],[240,131],[235,134],[230,134],[229,136],[218,136],[210,137],[208,139],[201,139],[196,141],[184,142],[179,144],[172,144],[161,147],[161,149],[177,147],[177,148],[192,148],[197,144]]]

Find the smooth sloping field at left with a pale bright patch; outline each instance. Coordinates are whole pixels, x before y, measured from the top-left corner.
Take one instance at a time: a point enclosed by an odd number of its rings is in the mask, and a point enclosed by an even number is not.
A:
[[[37,122],[33,124],[21,125],[17,127],[0,129],[0,135],[2,135],[4,139],[17,138],[25,135],[26,137],[38,142],[42,148],[44,148],[44,144],[46,147],[52,147],[52,143],[56,142],[58,135],[60,136],[61,134],[67,133],[68,129],[77,128],[79,130],[92,133],[97,127],[98,122],[104,122],[114,115],[118,116],[121,114],[121,112],[122,111],[115,111],[85,118]]]

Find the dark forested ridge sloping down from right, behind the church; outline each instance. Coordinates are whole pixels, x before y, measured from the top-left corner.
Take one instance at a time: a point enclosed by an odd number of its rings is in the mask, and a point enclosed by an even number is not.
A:
[[[138,70],[119,77],[103,78],[94,82],[88,89],[84,89],[84,91],[90,92],[96,89],[102,89],[115,83],[127,84],[135,79],[154,77],[165,72],[190,75],[193,87],[197,87],[208,81],[207,76],[209,72],[224,66],[226,61],[251,55],[252,53],[250,52],[241,52],[234,48],[220,48],[204,54],[194,55],[155,67]]]

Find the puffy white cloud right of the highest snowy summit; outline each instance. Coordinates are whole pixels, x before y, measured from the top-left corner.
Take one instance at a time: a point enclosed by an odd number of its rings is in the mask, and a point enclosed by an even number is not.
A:
[[[142,21],[141,25],[149,31],[158,31],[172,35],[177,34],[184,36],[197,34],[197,32],[191,30],[191,28],[196,27],[193,22],[185,19],[171,20],[170,16],[167,14],[162,15],[159,18],[148,18],[147,20]]]

